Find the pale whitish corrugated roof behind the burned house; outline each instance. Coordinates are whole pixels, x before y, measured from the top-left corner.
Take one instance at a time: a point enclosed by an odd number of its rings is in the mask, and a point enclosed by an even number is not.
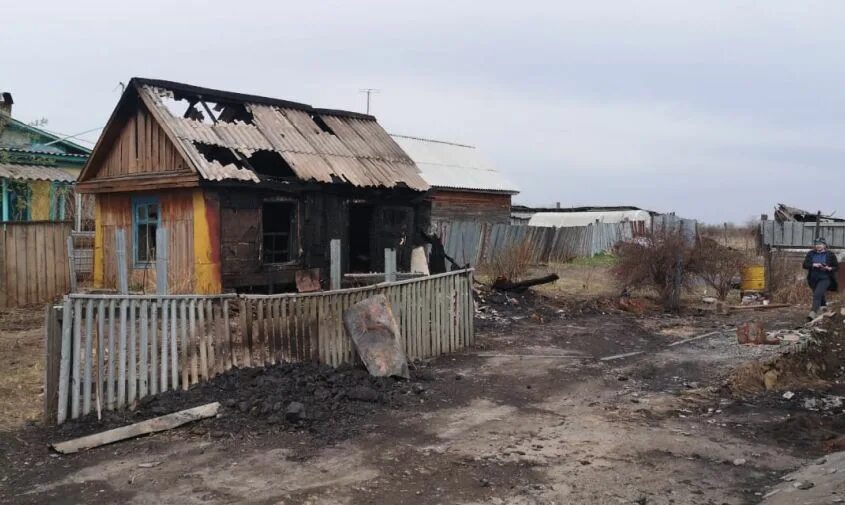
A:
[[[391,136],[417,164],[423,179],[433,187],[519,193],[516,185],[473,146]]]

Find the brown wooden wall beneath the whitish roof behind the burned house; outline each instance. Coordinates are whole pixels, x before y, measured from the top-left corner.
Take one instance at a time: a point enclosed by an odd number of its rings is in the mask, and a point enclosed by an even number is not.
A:
[[[511,195],[470,191],[435,190],[431,196],[431,221],[510,222]]]

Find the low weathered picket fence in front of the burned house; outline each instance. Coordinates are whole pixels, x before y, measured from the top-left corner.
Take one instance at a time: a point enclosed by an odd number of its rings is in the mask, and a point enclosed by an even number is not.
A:
[[[409,359],[473,342],[472,270],[309,294],[72,294],[47,316],[45,419],[125,408],[233,366],[354,362],[342,314],[376,294]]]

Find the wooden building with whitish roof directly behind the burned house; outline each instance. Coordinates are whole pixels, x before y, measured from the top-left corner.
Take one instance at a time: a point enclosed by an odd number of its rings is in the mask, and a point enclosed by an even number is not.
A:
[[[510,221],[511,198],[519,191],[477,148],[403,135],[392,137],[432,187],[432,223]]]

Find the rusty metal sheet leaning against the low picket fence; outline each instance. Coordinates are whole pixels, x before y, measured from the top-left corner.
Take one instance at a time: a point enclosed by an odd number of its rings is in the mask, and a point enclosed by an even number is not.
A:
[[[372,296],[349,307],[343,312],[343,325],[370,375],[410,377],[399,345],[399,325],[387,297]]]

